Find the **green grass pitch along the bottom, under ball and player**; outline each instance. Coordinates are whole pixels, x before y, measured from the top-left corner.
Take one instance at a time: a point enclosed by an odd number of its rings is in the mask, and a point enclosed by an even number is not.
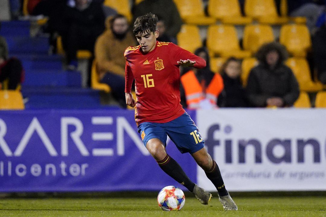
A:
[[[118,195],[118,194],[116,194]],[[240,194],[241,195],[241,194]],[[215,197],[214,197],[215,196]],[[326,217],[325,196],[234,196],[238,211],[223,211],[217,194],[209,205],[202,205],[192,195],[186,195],[180,211],[164,212],[150,196],[118,197],[4,197],[0,198],[0,216],[309,216]]]

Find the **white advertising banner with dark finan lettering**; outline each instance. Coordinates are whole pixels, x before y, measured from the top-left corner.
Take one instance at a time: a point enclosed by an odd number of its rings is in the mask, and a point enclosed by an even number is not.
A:
[[[199,110],[197,125],[227,190],[326,190],[325,109]]]

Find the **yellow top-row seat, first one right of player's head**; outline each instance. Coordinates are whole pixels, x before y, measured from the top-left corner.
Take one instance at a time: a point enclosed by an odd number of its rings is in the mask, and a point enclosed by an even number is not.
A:
[[[182,20],[187,24],[210,25],[216,21],[215,18],[205,16],[201,0],[174,0],[174,3]]]

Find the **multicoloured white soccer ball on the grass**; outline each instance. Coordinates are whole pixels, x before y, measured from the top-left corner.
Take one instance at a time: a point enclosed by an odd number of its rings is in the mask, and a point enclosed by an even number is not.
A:
[[[164,211],[181,210],[185,205],[185,194],[180,188],[169,185],[158,193],[157,203]]]

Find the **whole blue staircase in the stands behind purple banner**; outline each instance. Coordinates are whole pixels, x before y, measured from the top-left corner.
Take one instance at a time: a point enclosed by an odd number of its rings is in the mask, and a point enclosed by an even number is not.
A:
[[[9,56],[20,59],[25,70],[26,109],[112,108],[100,104],[99,91],[82,88],[80,72],[63,70],[62,57],[48,55],[49,39],[30,37],[30,27],[29,21],[8,21],[1,23],[0,30]]]

